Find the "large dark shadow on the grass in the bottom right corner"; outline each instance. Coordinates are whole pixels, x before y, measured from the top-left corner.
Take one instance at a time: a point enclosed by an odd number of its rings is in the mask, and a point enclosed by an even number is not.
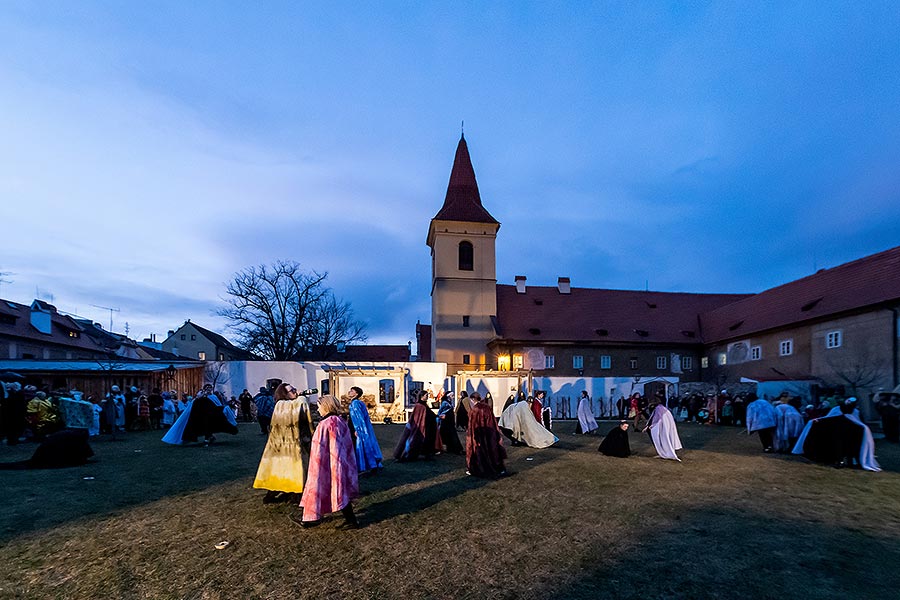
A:
[[[544,582],[529,597],[897,597],[893,533],[716,506],[674,519],[651,517],[637,541],[584,549],[571,583]]]

